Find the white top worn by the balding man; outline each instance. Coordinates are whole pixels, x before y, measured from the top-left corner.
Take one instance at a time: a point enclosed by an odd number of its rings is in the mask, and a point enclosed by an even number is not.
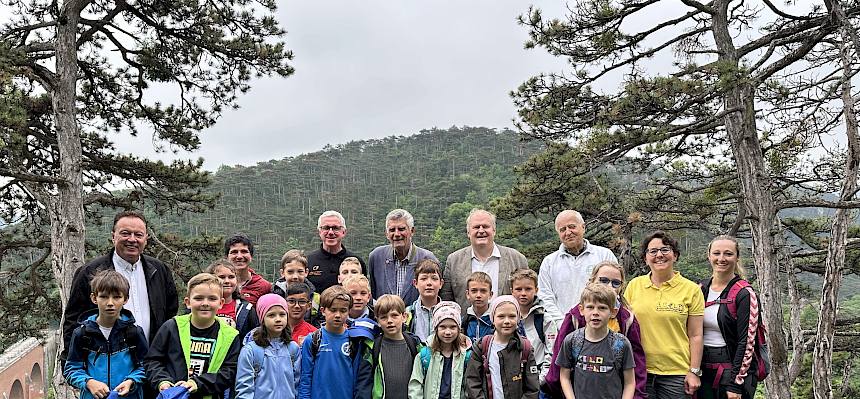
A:
[[[578,256],[568,253],[561,244],[557,251],[543,258],[538,272],[537,295],[543,301],[547,315],[561,320],[576,306],[594,266],[605,260],[618,262],[612,251],[592,245],[588,240],[583,240]]]

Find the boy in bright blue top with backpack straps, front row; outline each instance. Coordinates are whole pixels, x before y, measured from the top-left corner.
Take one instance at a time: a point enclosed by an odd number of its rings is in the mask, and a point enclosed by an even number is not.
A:
[[[371,369],[363,359],[361,339],[350,339],[346,318],[352,297],[342,286],[333,285],[320,295],[323,328],[302,343],[298,398],[370,397]]]

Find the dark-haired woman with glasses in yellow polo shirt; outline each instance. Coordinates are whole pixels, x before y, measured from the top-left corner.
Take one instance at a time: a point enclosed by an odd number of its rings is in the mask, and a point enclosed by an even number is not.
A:
[[[634,278],[624,298],[639,320],[650,398],[690,397],[701,385],[705,300],[698,284],[676,272],[678,242],[655,231],[642,241],[651,272]]]

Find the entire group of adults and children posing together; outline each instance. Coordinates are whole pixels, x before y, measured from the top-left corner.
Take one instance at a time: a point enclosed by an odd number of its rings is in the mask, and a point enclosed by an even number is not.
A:
[[[317,226],[320,247],[287,251],[274,283],[251,267],[248,237],[228,238],[180,311],[170,270],[143,255],[146,220],[117,214],[113,251],[74,277],[67,381],[96,399],[751,399],[762,376],[759,303],[733,237],[711,241],[712,277],[695,283],[674,270],[677,241],[655,231],[641,244],[650,273],[628,282],[573,210],[556,217],[560,246],[538,273],[494,242],[485,210],[444,265],[412,241],[403,209],[367,263],[344,247],[340,213]]]

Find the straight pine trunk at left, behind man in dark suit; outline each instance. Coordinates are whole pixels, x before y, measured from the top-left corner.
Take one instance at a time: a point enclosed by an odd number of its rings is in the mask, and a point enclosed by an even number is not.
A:
[[[60,9],[56,38],[56,76],[51,88],[57,147],[60,157],[62,184],[57,186],[57,197],[47,204],[51,220],[51,269],[60,288],[60,302],[65,311],[72,277],[84,260],[84,204],[81,175],[81,139],[78,131],[76,96],[78,54],[77,25],[86,1],[67,1]],[[59,350],[63,341],[60,339]],[[57,397],[69,395],[68,389],[56,384],[57,374],[62,380],[62,369],[54,372]]]

